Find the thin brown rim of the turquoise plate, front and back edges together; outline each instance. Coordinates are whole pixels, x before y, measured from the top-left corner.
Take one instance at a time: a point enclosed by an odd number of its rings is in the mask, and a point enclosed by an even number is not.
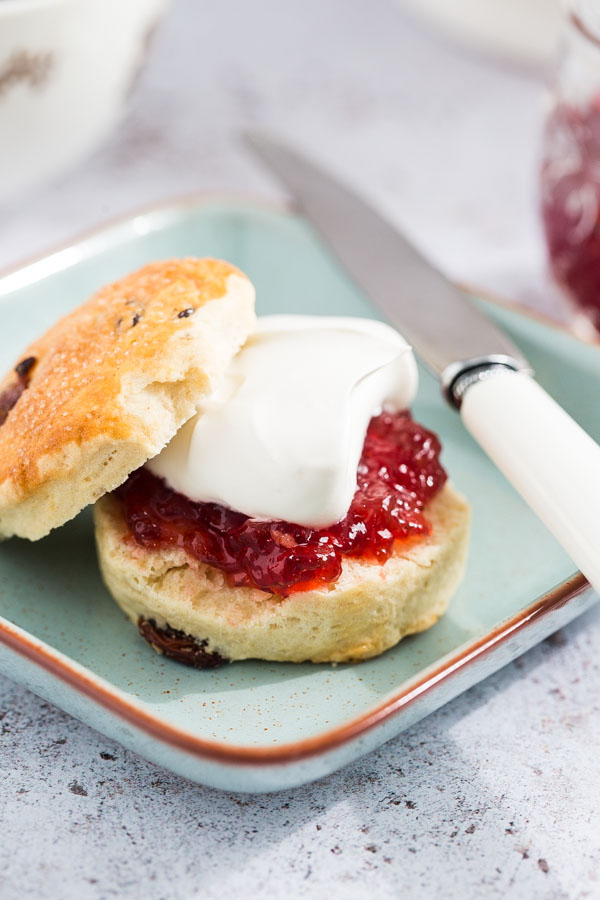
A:
[[[67,268],[72,264],[68,260],[69,251],[81,248],[82,245],[87,243],[91,244],[94,239],[102,234],[112,231],[116,235],[120,228],[133,224],[140,217],[151,217],[160,225],[161,222],[171,217],[179,216],[190,208],[202,207],[215,202],[258,207],[289,217],[297,215],[297,211],[292,203],[250,193],[203,191],[186,194],[179,198],[147,205],[111,218],[100,225],[86,229],[46,252],[37,253],[16,265],[13,264],[0,269],[0,288],[2,287],[2,282],[9,279],[10,276],[18,275],[18,273],[36,266],[39,267],[44,261],[55,260],[57,266],[51,269],[53,273]],[[62,264],[61,257],[65,260]],[[32,278],[28,283],[43,280],[44,277],[44,274],[41,274]],[[464,287],[469,293],[482,297],[492,305],[507,308],[518,315],[532,319],[538,324],[552,327],[586,346],[589,346],[590,343],[592,345],[596,343],[583,341],[559,322],[544,316],[544,314],[532,313],[531,310],[523,309],[514,302],[506,302],[504,299],[498,296],[491,296],[488,292],[474,286]],[[0,290],[0,293],[9,297],[11,291]],[[529,606],[504,620],[495,628],[479,638],[463,644],[454,653],[447,654],[437,665],[427,667],[420,677],[409,679],[404,683],[402,689],[389,692],[383,700],[366,709],[363,713],[348,719],[341,725],[316,735],[282,743],[275,747],[228,744],[224,741],[209,740],[172,725],[159,715],[143,709],[135,701],[129,700],[116,686],[111,685],[106,679],[95,675],[91,670],[86,669],[85,666],[77,663],[44,641],[35,638],[25,629],[13,625],[3,617],[0,617],[0,644],[4,644],[9,650],[26,658],[38,668],[58,678],[61,682],[96,702],[110,713],[117,715],[130,725],[135,726],[153,738],[157,738],[162,743],[198,759],[220,763],[237,763],[245,766],[283,765],[321,756],[383,725],[431,689],[462,671],[469,663],[487,655],[513,635],[534,621],[564,606],[589,587],[585,577],[580,572],[575,572],[565,581],[551,588],[550,591],[538,597]]]

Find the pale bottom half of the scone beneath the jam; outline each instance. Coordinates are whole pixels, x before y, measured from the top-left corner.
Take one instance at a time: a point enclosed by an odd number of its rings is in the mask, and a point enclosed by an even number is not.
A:
[[[399,544],[384,565],[345,559],[335,584],[287,598],[230,587],[184,550],[138,546],[114,496],[94,516],[104,581],[133,622],[170,626],[228,660],[351,662],[433,625],[462,578],[468,503],[446,484],[426,511],[432,534]]]

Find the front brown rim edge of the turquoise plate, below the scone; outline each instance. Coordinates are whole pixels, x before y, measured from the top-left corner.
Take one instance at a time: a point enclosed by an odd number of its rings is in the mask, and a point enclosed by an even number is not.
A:
[[[560,609],[588,587],[589,584],[581,573],[574,574],[544,594],[535,603],[498,625],[483,637],[462,647],[458,653],[446,658],[435,669],[429,670],[416,682],[409,683],[406,688],[388,697],[374,709],[320,735],[304,738],[294,743],[282,744],[279,747],[244,747],[243,745],[230,745],[222,741],[207,741],[195,737],[193,734],[169,725],[151,713],[138,708],[118,693],[108,689],[99,678],[94,678],[80,672],[78,668],[70,666],[66,659],[62,658],[62,654],[59,655],[56,651],[52,652],[51,648],[31,640],[27,634],[23,635],[16,630],[13,631],[9,623],[4,624],[1,621],[0,643],[36,663],[50,674],[57,676],[109,712],[116,714],[152,737],[158,738],[163,743],[170,744],[177,750],[214,762],[245,765],[284,764],[318,756],[360,737],[373,727],[390,719],[401,709],[408,707],[434,686],[464,669],[469,663],[475,662],[489,653],[490,650],[532,622]]]

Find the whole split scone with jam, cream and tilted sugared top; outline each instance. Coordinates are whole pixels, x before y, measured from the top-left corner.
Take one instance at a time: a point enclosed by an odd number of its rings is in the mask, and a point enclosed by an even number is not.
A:
[[[383,323],[256,320],[228,263],[152,263],[0,382],[0,537],[97,501],[109,591],[188,665],[376,656],[442,615],[465,565],[468,504],[416,389]]]

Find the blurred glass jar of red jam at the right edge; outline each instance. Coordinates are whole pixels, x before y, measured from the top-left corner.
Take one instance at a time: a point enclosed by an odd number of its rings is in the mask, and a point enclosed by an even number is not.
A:
[[[573,0],[544,135],[542,218],[574,330],[600,334],[600,2]]]

